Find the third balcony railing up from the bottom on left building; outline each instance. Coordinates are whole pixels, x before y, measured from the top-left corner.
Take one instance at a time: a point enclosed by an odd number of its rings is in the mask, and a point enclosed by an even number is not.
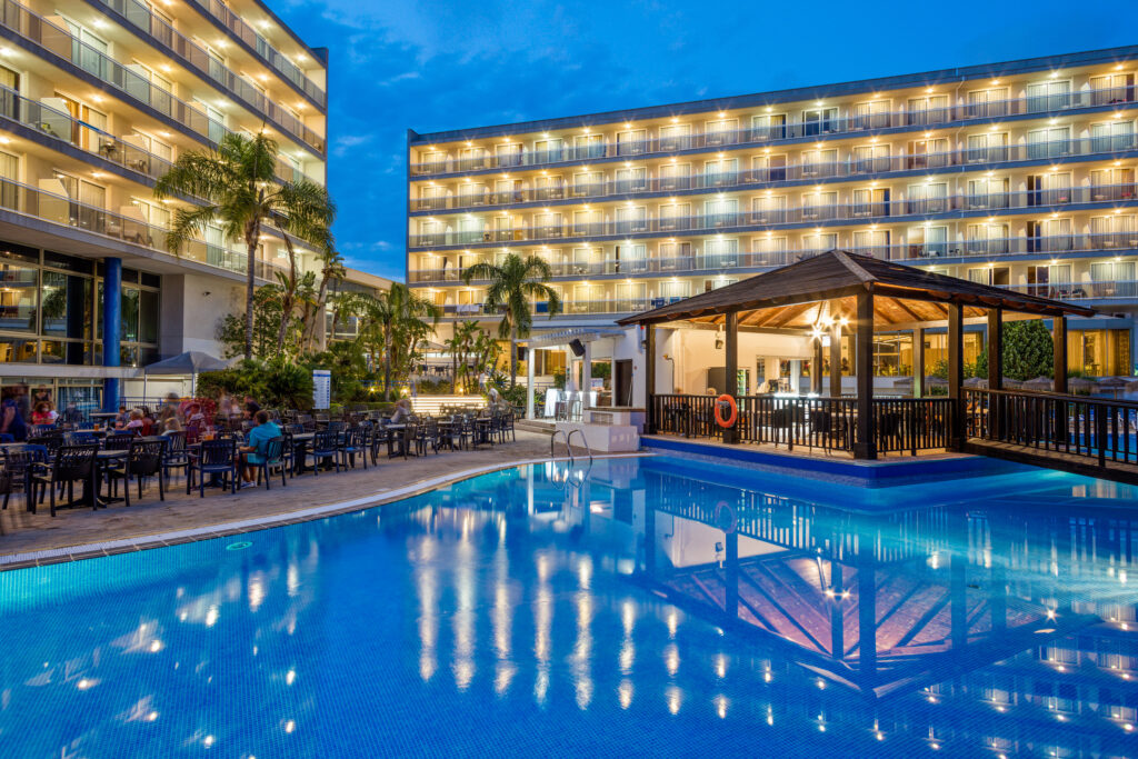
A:
[[[109,86],[138,100],[187,129],[217,142],[229,133],[221,122],[209,118],[198,108],[179,100],[170,92],[154,86],[142,75],[126,68],[91,46],[72,36],[67,30],[52,24],[13,0],[2,0],[0,25],[42,47],[64,60],[101,80]],[[291,170],[290,170],[291,171]]]

